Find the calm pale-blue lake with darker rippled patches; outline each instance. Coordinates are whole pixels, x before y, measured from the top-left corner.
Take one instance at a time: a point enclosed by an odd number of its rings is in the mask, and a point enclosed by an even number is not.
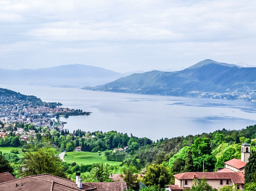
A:
[[[62,107],[93,112],[61,117],[70,132],[116,130],[152,140],[256,124],[256,102],[88,91],[76,88],[0,85]]]

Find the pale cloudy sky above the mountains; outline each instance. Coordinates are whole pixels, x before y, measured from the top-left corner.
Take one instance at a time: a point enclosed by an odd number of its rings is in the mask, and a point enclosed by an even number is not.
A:
[[[0,0],[0,68],[256,65],[254,0]]]

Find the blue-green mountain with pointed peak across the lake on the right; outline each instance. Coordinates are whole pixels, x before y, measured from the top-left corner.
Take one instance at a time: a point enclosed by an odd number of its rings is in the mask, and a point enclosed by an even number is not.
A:
[[[132,74],[82,89],[168,96],[256,100],[256,67],[203,60],[182,71]]]

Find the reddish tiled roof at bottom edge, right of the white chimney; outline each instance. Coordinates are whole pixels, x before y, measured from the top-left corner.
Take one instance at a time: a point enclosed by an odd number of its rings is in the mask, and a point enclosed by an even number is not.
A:
[[[125,182],[87,182],[88,186],[96,187],[95,191],[123,191],[127,190]]]

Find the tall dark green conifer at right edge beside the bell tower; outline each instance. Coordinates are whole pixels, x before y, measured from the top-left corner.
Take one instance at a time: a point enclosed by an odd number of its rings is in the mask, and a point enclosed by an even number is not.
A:
[[[248,159],[248,163],[245,165],[244,169],[244,182],[256,182],[255,180],[255,172],[256,172],[256,151],[251,150],[251,155]]]

